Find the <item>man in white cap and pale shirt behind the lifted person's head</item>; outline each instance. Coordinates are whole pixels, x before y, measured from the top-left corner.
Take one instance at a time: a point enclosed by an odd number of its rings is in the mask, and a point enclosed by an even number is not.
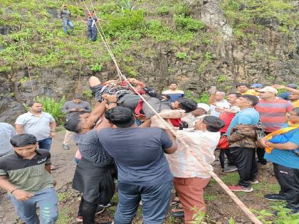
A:
[[[196,119],[200,119],[201,117],[206,116],[206,114],[209,112],[210,106],[205,103],[198,103],[196,110],[187,113],[186,116],[182,117],[182,122],[185,125],[185,127],[194,127],[194,121]]]

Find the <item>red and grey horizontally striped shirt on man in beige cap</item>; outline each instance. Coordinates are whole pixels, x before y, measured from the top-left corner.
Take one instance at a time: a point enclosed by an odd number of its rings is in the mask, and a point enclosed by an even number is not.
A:
[[[291,102],[276,98],[268,102],[260,100],[256,105],[256,110],[260,114],[264,132],[275,132],[285,124],[285,114],[293,110]]]

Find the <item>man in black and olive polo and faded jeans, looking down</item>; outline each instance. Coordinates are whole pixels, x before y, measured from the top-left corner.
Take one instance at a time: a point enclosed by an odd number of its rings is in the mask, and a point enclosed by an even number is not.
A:
[[[23,222],[55,223],[58,218],[56,183],[51,177],[51,154],[36,149],[36,137],[18,134],[11,138],[14,153],[0,158],[0,188],[9,193],[11,203]],[[40,208],[40,218],[36,214]]]

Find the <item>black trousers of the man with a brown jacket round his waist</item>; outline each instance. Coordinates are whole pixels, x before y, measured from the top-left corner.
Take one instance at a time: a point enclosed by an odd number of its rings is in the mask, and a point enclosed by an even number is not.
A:
[[[228,150],[229,159],[234,162],[238,168],[238,175],[240,176],[238,185],[245,187],[251,186],[251,181],[255,181],[258,175],[255,149],[231,147]]]

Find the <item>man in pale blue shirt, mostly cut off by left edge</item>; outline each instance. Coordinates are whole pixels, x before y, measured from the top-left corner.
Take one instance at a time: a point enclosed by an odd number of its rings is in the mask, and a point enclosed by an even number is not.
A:
[[[16,130],[11,124],[0,122],[0,157],[14,151],[10,142],[14,135],[16,135]]]

